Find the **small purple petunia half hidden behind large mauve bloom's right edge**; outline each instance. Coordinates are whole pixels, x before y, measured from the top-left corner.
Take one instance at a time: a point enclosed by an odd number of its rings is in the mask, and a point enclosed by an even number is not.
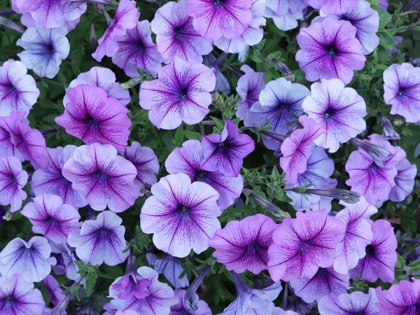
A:
[[[137,176],[134,179],[136,186],[142,188],[145,183],[149,185],[156,183],[159,162],[158,157],[151,148],[141,146],[139,142],[133,141],[131,146],[125,147],[123,155],[137,168]]]

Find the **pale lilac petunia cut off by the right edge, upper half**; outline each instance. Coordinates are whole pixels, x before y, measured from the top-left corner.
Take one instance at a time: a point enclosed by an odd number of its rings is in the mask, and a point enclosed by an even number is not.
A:
[[[390,113],[408,123],[420,121],[420,67],[392,64],[384,71],[384,99],[392,105]]]

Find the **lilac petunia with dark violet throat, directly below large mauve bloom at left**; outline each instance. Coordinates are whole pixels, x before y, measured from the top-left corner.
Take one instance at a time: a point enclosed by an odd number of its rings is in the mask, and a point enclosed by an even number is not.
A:
[[[68,243],[76,248],[78,258],[92,265],[115,266],[124,262],[128,252],[123,253],[125,228],[123,220],[111,211],[102,211],[96,220],[85,220],[78,234],[72,232]]]

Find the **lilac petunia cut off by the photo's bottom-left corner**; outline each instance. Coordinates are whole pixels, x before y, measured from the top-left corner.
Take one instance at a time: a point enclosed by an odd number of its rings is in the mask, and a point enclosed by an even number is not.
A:
[[[21,274],[0,277],[0,311],[3,315],[43,314],[45,302],[34,283]]]

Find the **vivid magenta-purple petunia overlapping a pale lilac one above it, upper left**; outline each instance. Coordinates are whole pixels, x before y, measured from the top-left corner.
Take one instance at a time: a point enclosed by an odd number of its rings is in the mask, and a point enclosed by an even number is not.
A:
[[[66,95],[69,103],[62,116],[55,118],[57,125],[85,144],[112,144],[120,152],[125,149],[132,124],[127,107],[90,85],[70,87]]]

